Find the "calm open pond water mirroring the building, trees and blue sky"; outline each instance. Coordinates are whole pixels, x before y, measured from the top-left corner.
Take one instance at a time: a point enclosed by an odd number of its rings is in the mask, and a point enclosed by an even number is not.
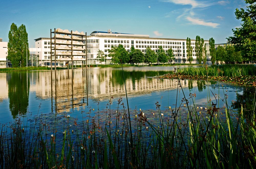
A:
[[[175,107],[184,97],[178,89],[177,80],[157,79],[154,76],[163,75],[173,71],[173,67],[127,67],[124,68],[129,107],[131,109],[156,110],[155,103],[161,103],[161,109],[168,106]],[[215,94],[228,95],[228,104],[233,108],[239,105],[232,101],[250,91],[244,87],[224,85],[223,89],[218,82],[182,80],[182,87],[188,98],[189,93],[196,93],[196,104],[205,107],[207,86]],[[220,84],[221,85],[221,84]],[[7,123],[19,114],[37,112],[58,115],[69,114],[81,120],[81,111],[106,109],[106,104],[113,97],[113,106],[117,107],[117,99],[125,99],[122,68],[88,68],[55,71],[31,71],[0,73],[0,123]],[[208,96],[209,97],[209,96]],[[215,98],[211,94],[211,100]],[[124,102],[126,103],[126,102]],[[39,108],[40,105],[40,108]],[[125,104],[125,106],[127,106]],[[223,102],[219,106],[224,106]],[[26,115],[25,115],[26,116]]]

